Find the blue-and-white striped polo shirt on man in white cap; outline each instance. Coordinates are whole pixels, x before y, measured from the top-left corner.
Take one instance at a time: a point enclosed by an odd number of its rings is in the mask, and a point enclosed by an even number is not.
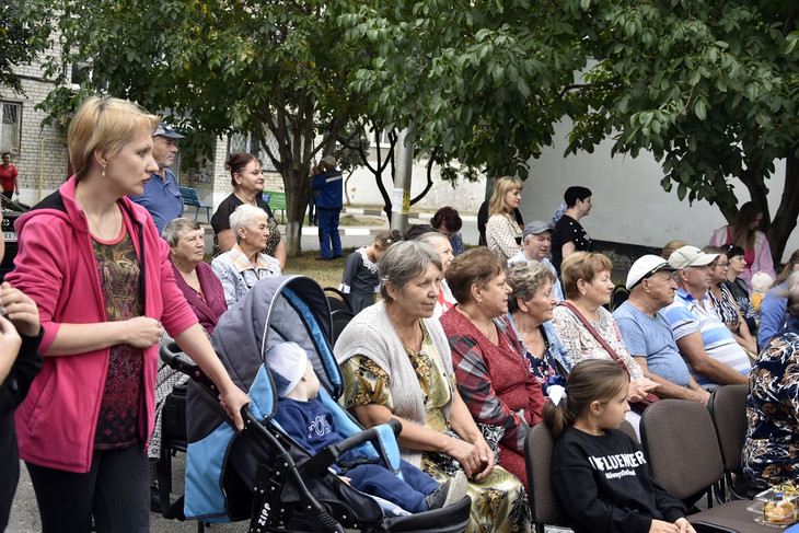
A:
[[[746,351],[741,348],[732,333],[713,311],[707,296],[705,296],[703,303],[704,308],[698,304],[694,297],[682,289],[675,291],[674,302],[663,310],[671,324],[671,331],[674,332],[674,340],[680,340],[686,335],[699,332],[702,340],[705,343],[705,352],[709,357],[723,362],[744,375],[748,374],[752,366],[749,362]],[[709,378],[695,372],[691,362],[684,356],[683,359],[685,359],[691,374],[699,385],[703,387],[719,385]]]

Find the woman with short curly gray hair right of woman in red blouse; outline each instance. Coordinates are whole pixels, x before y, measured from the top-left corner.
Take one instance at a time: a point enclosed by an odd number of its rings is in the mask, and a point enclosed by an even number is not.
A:
[[[551,322],[557,305],[553,281],[552,270],[535,260],[514,263],[508,269],[511,292],[506,318],[522,343],[533,375],[542,384],[571,371],[569,352]]]

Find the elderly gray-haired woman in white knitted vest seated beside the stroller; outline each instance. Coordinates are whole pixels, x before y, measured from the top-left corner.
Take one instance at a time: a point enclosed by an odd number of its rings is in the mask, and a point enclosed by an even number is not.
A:
[[[472,479],[468,532],[530,531],[521,482],[495,467],[495,454],[454,383],[447,336],[431,318],[441,260],[429,244],[402,242],[380,260],[381,302],[344,329],[334,352],[344,405],[367,428],[403,424],[403,459],[439,483],[456,470]]]

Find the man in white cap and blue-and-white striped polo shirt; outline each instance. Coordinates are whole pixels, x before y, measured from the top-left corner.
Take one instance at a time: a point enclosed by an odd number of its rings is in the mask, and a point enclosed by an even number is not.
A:
[[[710,266],[717,254],[705,254],[696,246],[682,246],[669,256],[676,269],[674,302],[664,313],[674,339],[703,387],[746,383],[752,369],[746,351],[718,317],[707,294]]]

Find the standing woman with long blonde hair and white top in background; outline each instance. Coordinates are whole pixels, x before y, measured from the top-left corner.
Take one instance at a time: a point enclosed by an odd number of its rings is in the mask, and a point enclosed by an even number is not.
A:
[[[521,202],[523,187],[518,177],[502,176],[494,184],[494,195],[488,201],[486,243],[506,263],[521,247],[523,227],[517,223],[513,210]]]

